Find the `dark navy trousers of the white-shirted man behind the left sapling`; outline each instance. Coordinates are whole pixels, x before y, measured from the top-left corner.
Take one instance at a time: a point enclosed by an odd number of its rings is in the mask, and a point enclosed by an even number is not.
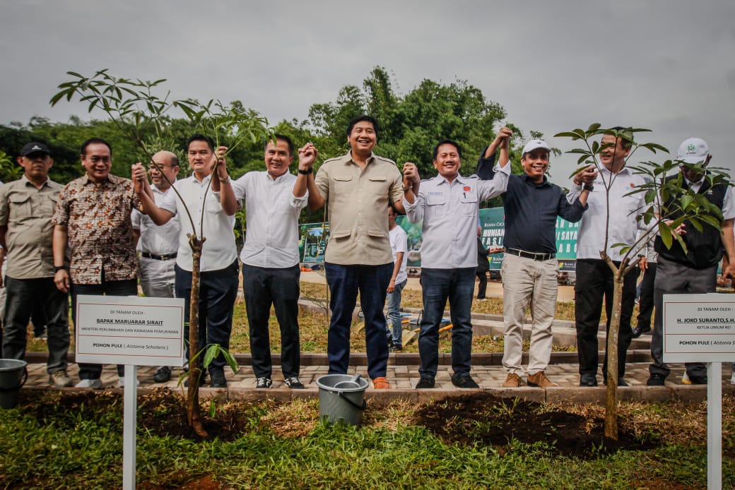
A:
[[[191,272],[178,265],[176,270],[176,298],[184,298],[184,338],[189,352],[189,313],[191,308]],[[232,309],[237,299],[237,260],[221,270],[208,270],[199,276],[199,349],[209,344],[219,344],[229,349],[232,333]],[[197,359],[201,365],[204,356]],[[209,372],[222,372],[224,356],[219,355],[209,364]]]

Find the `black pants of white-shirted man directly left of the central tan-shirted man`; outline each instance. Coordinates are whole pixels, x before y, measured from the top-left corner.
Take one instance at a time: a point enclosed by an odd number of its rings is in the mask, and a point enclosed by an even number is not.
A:
[[[270,305],[276,310],[281,328],[281,370],[284,378],[298,376],[301,346],[298,342],[298,295],[301,291],[298,264],[285,269],[270,269],[243,264],[243,293],[250,325],[250,351],[256,378],[270,378],[268,320]]]

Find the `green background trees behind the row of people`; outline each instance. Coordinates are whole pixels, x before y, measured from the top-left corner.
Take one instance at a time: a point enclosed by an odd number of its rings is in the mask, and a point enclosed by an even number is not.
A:
[[[242,107],[239,101],[238,104]],[[380,124],[376,154],[395,160],[399,167],[404,162],[415,162],[423,178],[436,175],[431,164],[431,151],[434,145],[445,138],[456,140],[462,145],[462,174],[474,171],[480,152],[495,137],[495,129],[506,118],[500,104],[489,101],[481,90],[466,81],[457,80],[442,84],[424,79],[409,93],[402,95],[395,89],[385,68],[376,67],[362,82],[362,87],[345,85],[337,93],[334,101],[312,104],[309,115],[304,120],[282,120],[274,125],[276,132],[289,135],[296,145],[312,142],[320,152],[320,162],[347,153],[349,147],[345,129],[348,120],[356,115],[370,114]],[[168,118],[165,121],[165,134],[157,135],[151,130],[145,134],[146,140],[153,142],[154,150],[174,151],[181,160],[184,176],[189,172],[184,145],[194,132],[189,120]],[[520,149],[524,135],[520,129],[509,124],[514,130],[511,161],[514,173],[521,171]],[[531,131],[531,137],[542,135]],[[0,151],[12,156],[12,162],[0,165],[0,179],[17,179],[18,170],[12,173],[15,156],[29,141],[46,143],[54,158],[54,167],[49,176],[60,183],[66,183],[82,176],[79,163],[79,146],[89,137],[102,137],[112,145],[112,173],[129,176],[130,165],[145,162],[140,149],[109,120],[81,120],[76,116],[66,123],[54,123],[48,118],[34,116],[27,124],[17,121],[0,125]],[[221,142],[227,144],[226,141]],[[234,178],[250,170],[263,170],[262,145],[254,142],[236,148],[229,157],[228,167]],[[292,165],[292,173],[296,165]],[[500,198],[483,203],[483,207],[501,206]],[[301,213],[301,223],[314,223],[324,220],[324,212]],[[240,228],[240,226],[237,226]],[[243,226],[244,228],[244,226]]]

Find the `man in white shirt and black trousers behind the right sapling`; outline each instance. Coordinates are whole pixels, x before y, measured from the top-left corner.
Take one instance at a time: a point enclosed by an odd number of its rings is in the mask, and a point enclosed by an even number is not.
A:
[[[622,127],[613,128],[622,131]],[[612,317],[613,275],[608,264],[600,258],[600,251],[606,251],[612,261],[620,265],[623,254],[616,243],[633,244],[639,227],[645,225],[636,220],[636,215],[645,207],[645,194],[630,195],[631,190],[645,183],[642,176],[625,167],[625,159],[631,150],[631,142],[605,134],[602,144],[610,146],[600,153],[600,172],[593,184],[584,184],[589,190],[589,208],[579,223],[577,239],[577,281],[574,287],[574,315],[577,329],[577,350],[579,356],[579,386],[597,386],[598,370],[598,331],[602,315],[603,298],[607,314],[607,329]],[[567,198],[581,194],[582,176],[574,176],[574,184]],[[609,187],[606,195],[605,185]],[[607,202],[610,203],[609,224],[607,223]],[[607,241],[606,241],[607,239]],[[636,281],[640,270],[634,267],[623,279],[623,304],[620,308],[620,331],[617,339],[617,386],[625,383],[625,356],[631,345],[633,331],[631,316],[636,297]],[[607,382],[607,356],[603,361],[603,381]]]

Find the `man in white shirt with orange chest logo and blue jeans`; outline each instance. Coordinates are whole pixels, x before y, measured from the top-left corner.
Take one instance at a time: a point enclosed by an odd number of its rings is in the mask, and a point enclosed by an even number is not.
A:
[[[418,338],[420,381],[416,388],[434,388],[439,366],[439,325],[449,300],[452,321],[452,383],[477,388],[470,376],[472,298],[477,266],[477,220],[481,201],[505,192],[510,175],[507,151],[492,180],[459,175],[462,151],[452,140],[434,147],[439,175],[420,182],[416,165],[404,165],[404,209],[411,223],[423,220],[421,287],[423,318]]]

